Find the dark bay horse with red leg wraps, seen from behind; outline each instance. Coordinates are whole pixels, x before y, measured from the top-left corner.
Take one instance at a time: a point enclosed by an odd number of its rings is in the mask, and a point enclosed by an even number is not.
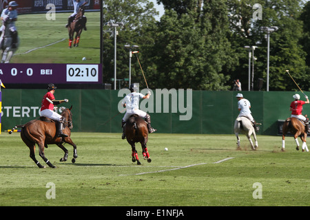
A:
[[[136,162],[138,165],[141,165],[135,146],[135,143],[137,142],[141,143],[143,158],[147,159],[147,162],[149,163],[152,162],[152,159],[149,158],[149,153],[147,151],[149,130],[147,129],[147,122],[145,122],[144,118],[141,118],[136,114],[131,115],[124,125],[124,131],[127,142],[132,146],[132,162]]]

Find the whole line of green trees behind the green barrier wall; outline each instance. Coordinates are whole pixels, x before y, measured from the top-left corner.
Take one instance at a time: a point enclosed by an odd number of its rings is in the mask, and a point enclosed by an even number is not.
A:
[[[128,45],[132,83],[150,89],[225,91],[236,78],[248,88],[249,51],[254,52],[254,88],[267,82],[267,37],[262,27],[277,26],[269,35],[269,91],[295,91],[286,70],[304,90],[310,88],[310,3],[302,0],[157,0],[165,14],[157,21],[148,0],[103,1],[103,82],[114,79],[114,28],[117,30],[116,72],[128,87]],[[261,6],[260,10],[254,4]],[[261,13],[260,13],[261,12]],[[260,14],[258,14],[260,13]],[[260,15],[260,17],[257,17]],[[136,49],[135,49],[136,50]],[[140,61],[141,67],[138,63]],[[251,70],[252,72],[252,70]],[[125,79],[125,80],[124,80]],[[117,89],[118,83],[117,83]]]

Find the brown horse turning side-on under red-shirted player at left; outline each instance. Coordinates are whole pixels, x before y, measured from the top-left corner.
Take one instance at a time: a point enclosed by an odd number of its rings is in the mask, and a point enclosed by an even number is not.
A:
[[[63,129],[63,133],[68,135],[68,137],[57,137],[56,135],[56,124],[50,118],[41,117],[41,120],[31,120],[23,125],[14,126],[14,129],[17,127],[21,127],[21,139],[30,149],[30,158],[34,161],[39,168],[45,168],[42,166],[36,159],[34,155],[35,144],[39,146],[39,155],[42,157],[44,162],[48,164],[51,168],[56,168],[49,160],[45,157],[44,147],[48,148],[48,144],[56,144],[59,146],[64,152],[65,155],[60,159],[61,162],[65,162],[68,159],[68,150],[63,146],[63,143],[68,143],[73,146],[73,159],[72,163],[76,162],[77,151],[76,144],[71,140],[71,129],[73,128],[72,124],[72,106],[70,109],[65,109],[61,113],[61,116],[65,121],[65,129]]]

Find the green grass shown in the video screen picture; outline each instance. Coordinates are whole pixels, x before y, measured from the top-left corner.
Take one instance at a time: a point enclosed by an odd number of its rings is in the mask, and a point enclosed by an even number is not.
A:
[[[87,31],[83,30],[79,47],[71,49],[65,28],[70,14],[56,13],[55,20],[45,14],[19,15],[20,45],[11,63],[100,63],[100,12],[85,12]]]

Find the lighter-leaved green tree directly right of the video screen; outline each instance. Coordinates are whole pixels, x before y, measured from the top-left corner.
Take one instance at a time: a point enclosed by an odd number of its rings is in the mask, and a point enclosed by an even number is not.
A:
[[[114,78],[114,28],[105,25],[107,22],[123,23],[117,28],[116,45],[116,72],[117,78],[129,76],[129,51],[124,45],[138,45],[143,56],[144,47],[152,44],[152,32],[158,14],[154,4],[147,0],[107,0],[103,1],[103,81],[112,83]],[[152,28],[151,28],[152,27]],[[148,29],[149,32],[145,30]],[[143,60],[143,58],[141,58]],[[142,61],[141,61],[142,63]],[[132,57],[132,83],[143,83],[143,76],[135,57]],[[121,87],[128,87],[127,82],[122,82]],[[117,83],[118,88],[118,83]]]

